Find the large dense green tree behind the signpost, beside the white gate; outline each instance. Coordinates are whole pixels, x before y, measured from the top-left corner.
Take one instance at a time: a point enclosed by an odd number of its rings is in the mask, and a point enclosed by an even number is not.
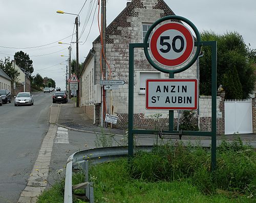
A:
[[[217,88],[223,85],[227,99],[248,98],[254,89],[255,49],[250,49],[237,32],[223,35],[212,31],[201,34],[202,41],[217,41]],[[211,94],[211,50],[202,47],[200,58],[200,94]]]

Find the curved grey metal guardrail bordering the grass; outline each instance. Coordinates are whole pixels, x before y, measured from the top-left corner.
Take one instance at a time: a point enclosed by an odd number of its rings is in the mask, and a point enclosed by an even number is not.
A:
[[[136,146],[135,153],[138,150],[152,151],[152,145]],[[68,158],[66,164],[66,177],[65,177],[65,192],[64,192],[64,203],[72,203],[73,200],[73,189],[86,189],[84,195],[80,197],[87,199],[90,203],[94,202],[93,195],[93,182],[89,182],[89,161],[90,164],[98,164],[103,162],[114,161],[121,157],[128,155],[128,147],[124,146],[113,146],[113,147],[101,147],[91,148],[87,150],[77,151]],[[80,168],[85,171],[86,179],[82,184],[72,186],[72,172],[78,171]]]

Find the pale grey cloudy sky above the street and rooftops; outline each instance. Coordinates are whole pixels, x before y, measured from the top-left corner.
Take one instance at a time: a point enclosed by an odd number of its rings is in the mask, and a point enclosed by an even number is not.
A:
[[[99,35],[98,0],[0,0],[0,59],[23,50],[33,60],[33,75],[52,78],[57,87],[65,89],[67,44],[75,41],[75,15],[57,14],[57,10],[80,16],[79,62],[84,61],[92,41]],[[107,25],[125,8],[126,0],[107,0]],[[255,0],[165,0],[176,15],[195,24],[198,30],[240,33],[245,43],[256,48]],[[84,6],[83,6],[84,5]],[[81,10],[82,9],[82,10]],[[94,14],[95,13],[95,14]],[[72,44],[71,58],[76,58]]]

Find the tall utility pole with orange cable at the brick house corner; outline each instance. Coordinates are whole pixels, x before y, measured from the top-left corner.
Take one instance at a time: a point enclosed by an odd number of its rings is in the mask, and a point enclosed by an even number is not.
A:
[[[103,70],[103,77],[102,80],[106,80],[106,62],[104,59],[103,54],[106,53],[106,0],[101,0],[101,33],[102,33],[102,45],[101,45],[101,51],[102,53],[102,70]],[[102,101],[101,101],[101,126],[103,126],[103,100],[106,98],[106,91],[104,90],[104,86],[101,87],[102,92]],[[106,99],[105,99],[105,107],[106,107]],[[106,112],[105,112],[106,113]]]

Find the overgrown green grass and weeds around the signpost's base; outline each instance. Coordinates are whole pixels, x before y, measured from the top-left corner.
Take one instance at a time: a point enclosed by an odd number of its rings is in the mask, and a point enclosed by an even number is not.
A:
[[[240,139],[222,141],[214,172],[209,150],[181,142],[157,145],[152,153],[141,151],[130,163],[124,158],[93,165],[89,174],[95,202],[256,202],[256,151]],[[82,173],[73,175],[73,184],[83,180]],[[39,198],[63,195],[61,187],[46,195],[49,191]]]

